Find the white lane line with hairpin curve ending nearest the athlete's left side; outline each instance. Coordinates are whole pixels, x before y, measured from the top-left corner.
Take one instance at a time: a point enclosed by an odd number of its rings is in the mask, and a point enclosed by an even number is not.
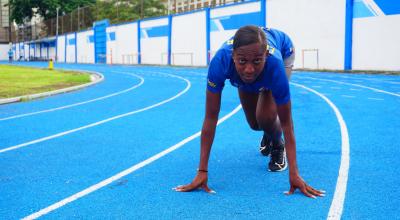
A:
[[[4,148],[4,149],[0,150],[0,153],[4,153],[4,152],[7,152],[7,151],[11,151],[11,150],[16,150],[18,148],[22,148],[22,147],[26,147],[26,146],[29,146],[29,145],[32,145],[32,144],[36,144],[36,143],[40,143],[40,142],[43,142],[43,141],[51,140],[51,139],[54,139],[54,138],[58,138],[58,137],[61,137],[61,136],[67,135],[67,134],[71,134],[71,133],[74,133],[74,132],[77,132],[77,131],[80,131],[80,130],[84,130],[84,129],[87,129],[87,128],[95,127],[95,126],[98,126],[98,125],[101,125],[101,124],[104,124],[104,123],[107,123],[107,122],[110,122],[110,121],[113,121],[113,120],[116,120],[116,119],[119,119],[119,118],[123,118],[123,117],[129,116],[129,115],[133,115],[133,114],[136,114],[136,113],[139,113],[139,112],[143,112],[143,111],[155,108],[157,106],[163,105],[163,104],[165,104],[167,102],[170,102],[170,101],[178,98],[179,96],[181,96],[184,93],[186,93],[189,90],[189,88],[191,87],[191,83],[189,82],[189,80],[187,80],[187,79],[185,79],[183,77],[176,76],[176,75],[173,75],[173,74],[168,74],[168,73],[164,73],[164,74],[170,75],[171,77],[176,77],[176,78],[183,79],[187,83],[186,88],[184,90],[182,90],[181,92],[179,92],[178,94],[176,94],[175,96],[173,96],[173,97],[171,97],[169,99],[166,99],[164,101],[161,101],[159,103],[156,103],[154,105],[151,105],[151,106],[148,106],[148,107],[145,107],[145,108],[142,108],[142,109],[138,109],[138,110],[135,110],[135,111],[131,111],[131,112],[128,112],[128,113],[125,113],[125,114],[117,115],[117,116],[114,116],[114,117],[111,117],[111,118],[107,118],[107,119],[104,119],[104,120],[101,120],[101,121],[98,121],[98,122],[95,122],[95,123],[92,123],[92,124],[88,124],[88,125],[85,125],[85,126],[82,126],[82,127],[79,127],[79,128],[75,128],[75,129],[72,129],[72,130],[60,132],[58,134],[54,134],[54,135],[50,135],[50,136],[43,137],[43,138],[40,138],[40,139],[36,139],[36,140],[33,140],[33,141],[29,141],[29,142],[26,142],[26,143],[18,144],[18,145],[12,146],[12,147]]]

